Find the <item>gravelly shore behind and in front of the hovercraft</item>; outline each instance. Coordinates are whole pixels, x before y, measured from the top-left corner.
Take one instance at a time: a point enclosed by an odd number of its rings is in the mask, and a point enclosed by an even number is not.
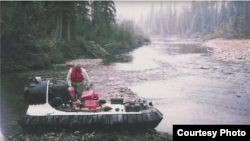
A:
[[[18,73],[17,77],[26,79],[24,85],[28,86],[35,76],[53,83],[66,83],[68,70],[74,63],[79,63],[85,68],[91,79],[91,89],[99,94],[100,99],[110,100],[111,97],[124,98],[124,101],[136,100],[138,95],[130,90],[127,85],[131,83],[132,76],[126,76],[123,71],[115,70],[114,65],[103,65],[102,59],[76,59],[67,61],[65,64],[53,65],[49,70]],[[124,79],[121,79],[124,78]],[[7,81],[7,80],[6,80]],[[136,82],[134,82],[136,83]],[[22,113],[24,114],[24,113]],[[16,121],[13,121],[16,122]],[[17,128],[18,125],[15,126]],[[18,127],[19,129],[20,127]],[[11,141],[33,141],[33,140],[56,140],[56,141],[78,141],[78,140],[156,140],[171,141],[172,135],[156,130],[145,129],[143,131],[115,130],[115,131],[89,131],[63,129],[57,130],[36,130],[34,133],[25,132],[21,129],[6,136]]]

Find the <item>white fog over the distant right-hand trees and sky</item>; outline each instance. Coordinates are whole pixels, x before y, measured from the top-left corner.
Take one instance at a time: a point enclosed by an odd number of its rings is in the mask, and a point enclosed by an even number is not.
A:
[[[117,21],[132,20],[147,35],[249,37],[250,2],[232,0],[114,0]]]

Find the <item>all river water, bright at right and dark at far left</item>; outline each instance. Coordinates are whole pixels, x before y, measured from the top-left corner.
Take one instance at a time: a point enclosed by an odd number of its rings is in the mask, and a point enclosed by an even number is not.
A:
[[[250,66],[211,60],[202,43],[153,40],[120,62],[88,65],[86,70],[96,89],[125,86],[152,100],[164,116],[158,131],[172,133],[173,124],[250,124]],[[67,70],[33,73],[66,77]],[[21,131],[16,119],[27,108],[22,101],[24,77],[27,73],[1,76],[0,140]]]

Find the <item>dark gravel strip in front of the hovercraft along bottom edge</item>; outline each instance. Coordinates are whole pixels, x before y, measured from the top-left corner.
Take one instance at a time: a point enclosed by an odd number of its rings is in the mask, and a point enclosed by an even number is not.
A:
[[[145,131],[66,131],[36,132],[9,136],[10,141],[172,141],[172,136],[167,133]]]

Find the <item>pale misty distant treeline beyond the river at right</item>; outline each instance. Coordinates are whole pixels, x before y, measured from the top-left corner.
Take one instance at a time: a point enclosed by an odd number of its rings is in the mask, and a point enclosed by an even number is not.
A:
[[[164,2],[164,0],[163,0]],[[183,1],[182,1],[183,2]],[[178,7],[178,0],[141,18],[143,29],[153,35],[194,38],[250,38],[249,0],[192,0]]]

